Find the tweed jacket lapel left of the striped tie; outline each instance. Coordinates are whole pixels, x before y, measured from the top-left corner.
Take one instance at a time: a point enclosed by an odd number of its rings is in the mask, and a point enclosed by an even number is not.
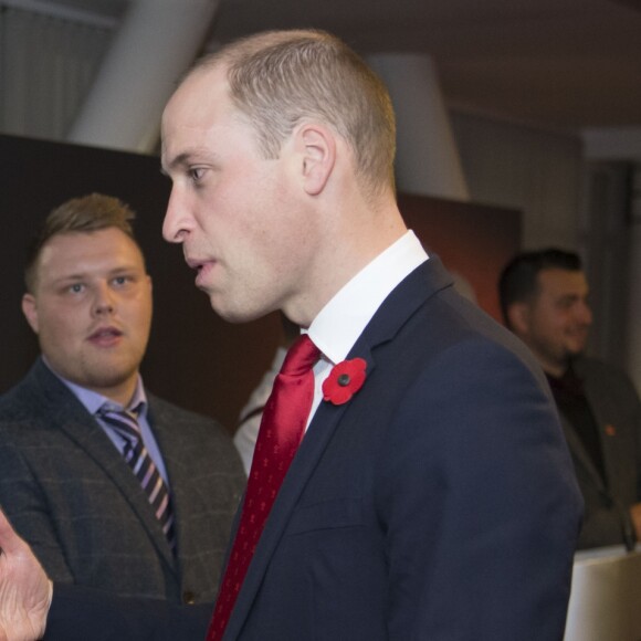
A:
[[[147,495],[101,425],[40,360],[31,374],[34,385],[42,390],[38,396],[46,402],[42,407],[46,421],[64,432],[105,472],[140,519],[158,554],[174,568],[174,556]]]

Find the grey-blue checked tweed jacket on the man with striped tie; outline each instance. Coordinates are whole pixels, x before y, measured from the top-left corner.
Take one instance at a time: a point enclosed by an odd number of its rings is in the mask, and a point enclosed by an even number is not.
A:
[[[148,400],[177,558],[118,450],[40,359],[0,398],[0,505],[55,581],[212,601],[244,487],[240,458],[213,420]]]

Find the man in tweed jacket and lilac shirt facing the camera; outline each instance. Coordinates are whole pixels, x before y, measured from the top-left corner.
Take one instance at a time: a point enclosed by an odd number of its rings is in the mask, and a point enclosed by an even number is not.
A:
[[[212,601],[244,474],[220,424],[143,386],[151,283],[133,216],[114,198],[73,199],[34,243],[22,308],[42,356],[0,398],[0,505],[56,581]],[[144,403],[143,438],[168,485],[174,549],[124,443],[95,416],[103,401]]]

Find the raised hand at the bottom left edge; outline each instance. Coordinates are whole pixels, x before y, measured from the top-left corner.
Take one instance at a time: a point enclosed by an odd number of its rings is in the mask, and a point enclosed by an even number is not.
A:
[[[0,641],[41,639],[52,593],[31,548],[0,511]]]

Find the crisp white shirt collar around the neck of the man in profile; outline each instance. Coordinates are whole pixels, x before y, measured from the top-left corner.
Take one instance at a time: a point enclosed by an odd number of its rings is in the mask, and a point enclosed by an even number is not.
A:
[[[428,258],[413,231],[407,231],[348,281],[309,325],[309,338],[324,357],[344,360],[391,291]]]

